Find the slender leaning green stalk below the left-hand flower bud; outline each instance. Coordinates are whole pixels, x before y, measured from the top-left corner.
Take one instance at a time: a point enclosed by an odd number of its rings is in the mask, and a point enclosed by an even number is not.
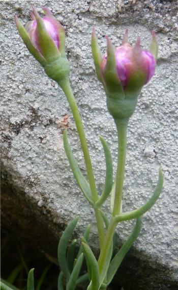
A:
[[[74,95],[73,95],[73,92],[72,92],[72,89],[70,86],[69,79],[64,79],[63,81],[60,81],[60,83],[58,83],[58,84],[63,89],[63,91],[67,97],[67,100],[69,102],[72,114],[74,116],[78,136],[80,139],[81,148],[83,151],[83,156],[84,156],[85,165],[86,165],[86,172],[87,172],[87,177],[88,177],[88,181],[89,181],[91,192],[92,192],[93,201],[94,201],[94,203],[96,203],[98,200],[98,192],[97,192],[97,188],[96,188],[90,153],[88,151],[85,132],[84,132],[83,124],[81,121],[80,113],[78,111],[77,103],[75,101],[75,98],[74,98]],[[104,223],[103,223],[102,216],[101,216],[98,209],[95,209],[95,215],[96,215],[96,220],[97,220],[97,228],[98,228],[99,242],[100,242],[100,249],[101,249],[103,239],[104,239]]]

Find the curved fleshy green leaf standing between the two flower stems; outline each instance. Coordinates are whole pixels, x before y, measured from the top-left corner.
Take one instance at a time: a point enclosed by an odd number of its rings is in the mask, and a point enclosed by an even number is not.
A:
[[[100,141],[102,143],[104,154],[105,154],[105,163],[106,163],[106,176],[105,176],[105,186],[104,190],[102,192],[102,195],[100,196],[99,200],[96,202],[96,206],[100,207],[108,198],[111,188],[112,188],[112,182],[113,182],[113,167],[112,167],[112,157],[110,153],[109,146],[106,142],[106,140],[99,135]]]

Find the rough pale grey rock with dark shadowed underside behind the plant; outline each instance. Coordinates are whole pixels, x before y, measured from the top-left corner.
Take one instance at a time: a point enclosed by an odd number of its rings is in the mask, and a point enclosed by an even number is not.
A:
[[[86,130],[99,192],[103,188],[105,165],[97,135],[107,139],[114,166],[117,140],[113,120],[106,109],[105,93],[94,70],[90,47],[92,27],[96,27],[103,53],[106,33],[118,46],[128,27],[131,44],[140,35],[143,47],[147,48],[151,41],[150,30],[157,32],[156,75],[143,88],[128,130],[123,209],[134,209],[150,197],[159,164],[165,177],[164,190],[154,208],[144,215],[140,236],[118,277],[125,289],[174,290],[178,281],[177,1],[0,3],[3,224],[20,231],[22,236],[27,229],[33,243],[53,254],[61,230],[80,214],[77,233],[80,235],[83,226],[92,223],[90,243],[97,251],[93,210],[76,185],[63,147],[63,131],[68,127],[71,147],[85,173],[69,105],[62,90],[29,55],[14,24],[14,14],[25,23],[29,20],[31,6],[41,11],[44,5],[66,29],[70,80]],[[104,210],[109,212],[108,203]],[[118,227],[120,244],[130,232],[130,225],[125,222]],[[44,233],[48,235],[47,241]]]

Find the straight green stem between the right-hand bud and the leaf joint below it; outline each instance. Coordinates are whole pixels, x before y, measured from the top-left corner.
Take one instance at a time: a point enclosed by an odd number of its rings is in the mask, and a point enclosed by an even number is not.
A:
[[[116,173],[113,216],[120,214],[122,206],[124,172],[126,165],[128,119],[115,119],[115,124],[118,135],[118,156],[117,156],[117,173]]]

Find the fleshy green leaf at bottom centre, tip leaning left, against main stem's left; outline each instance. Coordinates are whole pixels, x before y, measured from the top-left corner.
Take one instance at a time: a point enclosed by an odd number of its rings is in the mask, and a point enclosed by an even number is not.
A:
[[[87,287],[87,289],[98,290],[100,287],[98,262],[91,248],[85,243],[82,243],[82,246],[83,246],[83,252],[86,258],[88,276],[89,276],[89,279],[91,279],[91,284]]]

